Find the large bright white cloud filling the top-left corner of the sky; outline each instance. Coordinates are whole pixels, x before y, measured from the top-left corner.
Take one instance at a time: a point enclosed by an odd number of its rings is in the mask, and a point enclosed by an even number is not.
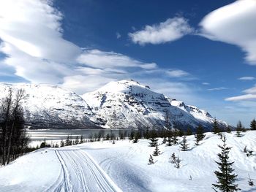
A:
[[[80,48],[61,37],[62,15],[51,4],[52,1],[0,1],[0,38],[5,45],[31,57],[73,61]]]

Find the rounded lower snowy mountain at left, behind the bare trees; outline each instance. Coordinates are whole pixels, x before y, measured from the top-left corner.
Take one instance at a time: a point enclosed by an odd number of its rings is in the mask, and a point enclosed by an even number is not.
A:
[[[80,128],[94,127],[89,119],[88,104],[80,96],[55,85],[0,84],[0,98],[8,91],[25,91],[23,108],[26,123],[34,128]]]

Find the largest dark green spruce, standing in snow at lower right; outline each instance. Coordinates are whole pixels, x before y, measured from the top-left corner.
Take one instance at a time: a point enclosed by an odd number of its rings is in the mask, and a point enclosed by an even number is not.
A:
[[[233,192],[239,191],[238,185],[236,182],[236,174],[232,174],[234,169],[232,165],[234,162],[229,161],[229,152],[232,147],[227,147],[225,136],[222,137],[223,145],[218,145],[222,150],[221,153],[218,154],[219,162],[216,161],[219,167],[219,171],[215,171],[214,174],[217,176],[217,184],[212,184],[215,188],[219,189],[223,192]]]

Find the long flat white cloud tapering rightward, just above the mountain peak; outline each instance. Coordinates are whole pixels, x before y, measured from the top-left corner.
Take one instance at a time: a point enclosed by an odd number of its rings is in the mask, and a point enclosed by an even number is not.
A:
[[[78,63],[86,66],[103,68],[112,67],[138,67],[141,69],[155,69],[157,64],[146,64],[141,61],[129,58],[127,55],[122,55],[115,52],[105,52],[101,50],[84,50],[78,58]]]

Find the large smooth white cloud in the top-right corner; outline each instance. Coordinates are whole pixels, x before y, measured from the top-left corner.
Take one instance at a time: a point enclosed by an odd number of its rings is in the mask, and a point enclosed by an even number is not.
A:
[[[256,65],[256,1],[238,0],[210,12],[200,22],[200,35],[241,47]]]

